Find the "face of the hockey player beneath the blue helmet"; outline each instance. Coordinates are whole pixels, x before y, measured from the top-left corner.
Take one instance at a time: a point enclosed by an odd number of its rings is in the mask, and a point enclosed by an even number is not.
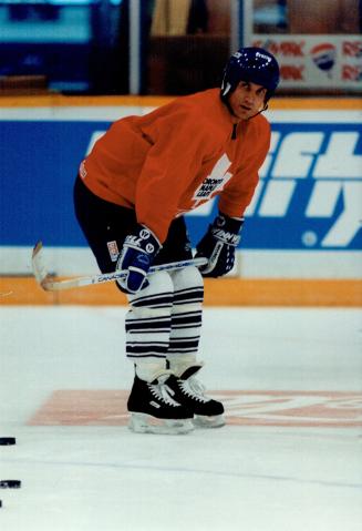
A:
[[[238,120],[248,120],[265,106],[267,89],[256,83],[240,81],[229,96],[229,106]]]

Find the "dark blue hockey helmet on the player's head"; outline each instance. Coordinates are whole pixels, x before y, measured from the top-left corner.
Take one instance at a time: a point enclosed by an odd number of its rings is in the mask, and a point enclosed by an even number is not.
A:
[[[277,89],[279,79],[279,65],[270,52],[263,48],[240,48],[225,67],[221,98],[235,91],[240,81],[248,81],[267,89],[267,102]]]

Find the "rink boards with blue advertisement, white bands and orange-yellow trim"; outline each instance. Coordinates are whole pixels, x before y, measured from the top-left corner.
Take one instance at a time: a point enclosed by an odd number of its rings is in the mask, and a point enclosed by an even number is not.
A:
[[[7,175],[0,226],[1,293],[18,294],[2,297],[3,303],[27,304],[32,292],[39,304],[120,302],[112,286],[97,287],[95,295],[87,288],[49,296],[39,294],[37,286],[34,290],[32,280],[9,283],[7,277],[31,274],[31,249],[39,238],[56,275],[96,272],[73,214],[77,165],[112,121],[149,112],[169,100],[56,94],[0,100]],[[272,102],[268,112],[271,146],[246,213],[232,273],[238,284],[231,286],[231,279],[211,283],[209,304],[361,304],[361,116],[356,99]],[[216,212],[216,202],[210,202],[187,215],[193,244]]]

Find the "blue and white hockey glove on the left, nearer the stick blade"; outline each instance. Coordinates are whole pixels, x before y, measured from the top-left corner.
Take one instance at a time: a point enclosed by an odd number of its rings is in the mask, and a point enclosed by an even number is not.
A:
[[[126,236],[117,261],[117,269],[128,272],[117,283],[125,293],[137,293],[148,286],[148,269],[162,248],[156,236],[145,225],[137,225],[134,234]]]

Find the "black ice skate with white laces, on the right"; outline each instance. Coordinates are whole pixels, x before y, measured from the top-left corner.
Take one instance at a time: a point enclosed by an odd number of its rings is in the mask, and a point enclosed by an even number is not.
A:
[[[176,376],[170,376],[167,386],[175,392],[174,398],[194,413],[197,428],[219,428],[225,425],[224,406],[205,395],[205,387],[195,378],[203,364],[190,365]]]

